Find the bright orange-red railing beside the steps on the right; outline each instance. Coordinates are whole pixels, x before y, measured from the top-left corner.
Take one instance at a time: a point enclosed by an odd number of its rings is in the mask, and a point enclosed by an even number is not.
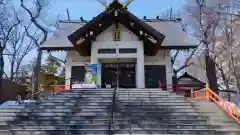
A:
[[[223,111],[240,124],[240,110],[231,102],[224,100],[222,97],[213,92],[210,88],[204,88],[199,91],[191,91],[192,99],[207,99],[217,104]]]

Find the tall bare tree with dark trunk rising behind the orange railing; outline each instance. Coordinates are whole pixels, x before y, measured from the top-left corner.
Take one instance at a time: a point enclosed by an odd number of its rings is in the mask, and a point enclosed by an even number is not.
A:
[[[216,43],[216,28],[221,20],[219,12],[227,9],[229,0],[189,0],[186,8],[188,25],[200,40],[200,46],[204,54],[206,78],[210,88],[218,92],[217,71],[212,46]]]

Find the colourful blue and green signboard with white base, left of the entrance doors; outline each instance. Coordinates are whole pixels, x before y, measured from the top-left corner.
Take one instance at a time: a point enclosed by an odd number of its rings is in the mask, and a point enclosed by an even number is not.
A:
[[[72,84],[73,89],[97,87],[97,64],[87,65],[85,70],[84,82]]]

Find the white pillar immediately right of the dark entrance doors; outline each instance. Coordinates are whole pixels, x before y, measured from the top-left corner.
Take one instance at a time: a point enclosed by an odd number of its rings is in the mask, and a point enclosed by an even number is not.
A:
[[[137,50],[137,64],[136,64],[136,84],[137,88],[145,88],[145,71],[144,71],[144,51],[143,45]]]

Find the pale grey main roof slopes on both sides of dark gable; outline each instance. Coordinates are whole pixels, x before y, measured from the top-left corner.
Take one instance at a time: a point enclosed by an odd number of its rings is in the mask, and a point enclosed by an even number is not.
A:
[[[198,41],[183,31],[180,22],[174,21],[145,21],[157,31],[165,35],[162,46],[196,46]],[[85,25],[80,21],[61,21],[58,31],[49,37],[40,48],[71,48],[72,43],[68,36]]]

